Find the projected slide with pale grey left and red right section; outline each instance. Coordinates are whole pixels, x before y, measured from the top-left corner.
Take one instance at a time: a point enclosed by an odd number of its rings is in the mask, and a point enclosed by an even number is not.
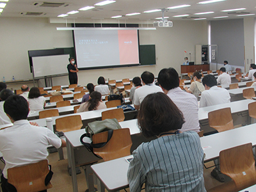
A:
[[[79,68],[139,63],[137,30],[79,30],[74,40]]]

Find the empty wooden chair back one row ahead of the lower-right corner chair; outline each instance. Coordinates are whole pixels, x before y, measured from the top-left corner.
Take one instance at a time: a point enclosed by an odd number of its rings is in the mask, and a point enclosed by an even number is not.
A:
[[[208,113],[209,126],[218,132],[234,129],[230,108],[218,109]]]

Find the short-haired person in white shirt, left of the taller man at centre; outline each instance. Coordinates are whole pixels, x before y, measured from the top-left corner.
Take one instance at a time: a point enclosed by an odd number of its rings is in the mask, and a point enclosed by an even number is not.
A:
[[[162,92],[159,86],[154,83],[155,77],[151,72],[145,71],[141,74],[143,86],[136,89],[134,92],[134,108],[139,110],[142,100],[150,93]]]

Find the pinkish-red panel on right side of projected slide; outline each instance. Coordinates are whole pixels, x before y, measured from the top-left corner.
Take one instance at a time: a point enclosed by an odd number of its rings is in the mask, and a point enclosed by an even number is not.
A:
[[[139,63],[137,30],[118,30],[120,64]]]

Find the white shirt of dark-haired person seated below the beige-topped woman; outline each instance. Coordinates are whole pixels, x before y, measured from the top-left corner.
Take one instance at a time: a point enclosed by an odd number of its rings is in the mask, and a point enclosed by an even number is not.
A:
[[[200,108],[230,102],[230,95],[225,88],[212,86],[201,94]]]

